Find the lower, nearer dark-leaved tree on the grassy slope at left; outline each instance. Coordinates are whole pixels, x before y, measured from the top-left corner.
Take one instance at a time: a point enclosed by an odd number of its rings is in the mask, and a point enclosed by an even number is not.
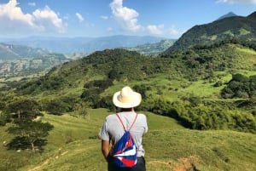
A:
[[[9,149],[26,149],[30,145],[32,151],[35,151],[35,145],[39,148],[44,145],[44,137],[49,134],[53,126],[49,123],[42,123],[30,120],[20,120],[14,126],[8,128],[10,134],[18,135],[9,143]]]

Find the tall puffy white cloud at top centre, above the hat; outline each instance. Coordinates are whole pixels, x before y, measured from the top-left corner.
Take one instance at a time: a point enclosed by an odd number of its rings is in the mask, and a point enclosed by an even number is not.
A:
[[[113,0],[110,3],[112,14],[115,20],[117,20],[123,29],[128,31],[140,31],[142,26],[137,24],[138,13],[134,9],[129,9],[123,6],[123,0]]]

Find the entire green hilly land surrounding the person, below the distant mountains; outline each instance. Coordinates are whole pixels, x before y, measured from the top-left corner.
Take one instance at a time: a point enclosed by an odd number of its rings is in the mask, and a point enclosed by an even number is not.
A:
[[[239,41],[155,57],[115,48],[9,83],[0,91],[0,162],[6,163],[0,170],[104,170],[96,134],[104,117],[116,111],[113,93],[130,85],[143,95],[137,111],[148,117],[143,142],[149,171],[253,171],[255,59],[253,44]],[[15,104],[24,101],[37,104],[42,121],[54,126],[44,151],[6,149],[14,137],[6,131],[14,124],[10,117],[20,114]]]

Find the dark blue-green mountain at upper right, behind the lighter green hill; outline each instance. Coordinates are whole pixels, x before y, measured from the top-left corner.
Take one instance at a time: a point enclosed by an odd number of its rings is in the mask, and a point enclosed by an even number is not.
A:
[[[255,28],[256,12],[247,17],[225,17],[209,24],[192,27],[172,47],[168,48],[165,53],[178,49],[186,49],[195,45],[209,45],[234,38],[256,42]]]

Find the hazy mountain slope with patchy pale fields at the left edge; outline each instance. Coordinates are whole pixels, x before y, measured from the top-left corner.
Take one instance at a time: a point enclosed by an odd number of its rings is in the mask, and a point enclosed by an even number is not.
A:
[[[72,59],[42,48],[0,43],[0,76],[24,76],[47,71]]]

